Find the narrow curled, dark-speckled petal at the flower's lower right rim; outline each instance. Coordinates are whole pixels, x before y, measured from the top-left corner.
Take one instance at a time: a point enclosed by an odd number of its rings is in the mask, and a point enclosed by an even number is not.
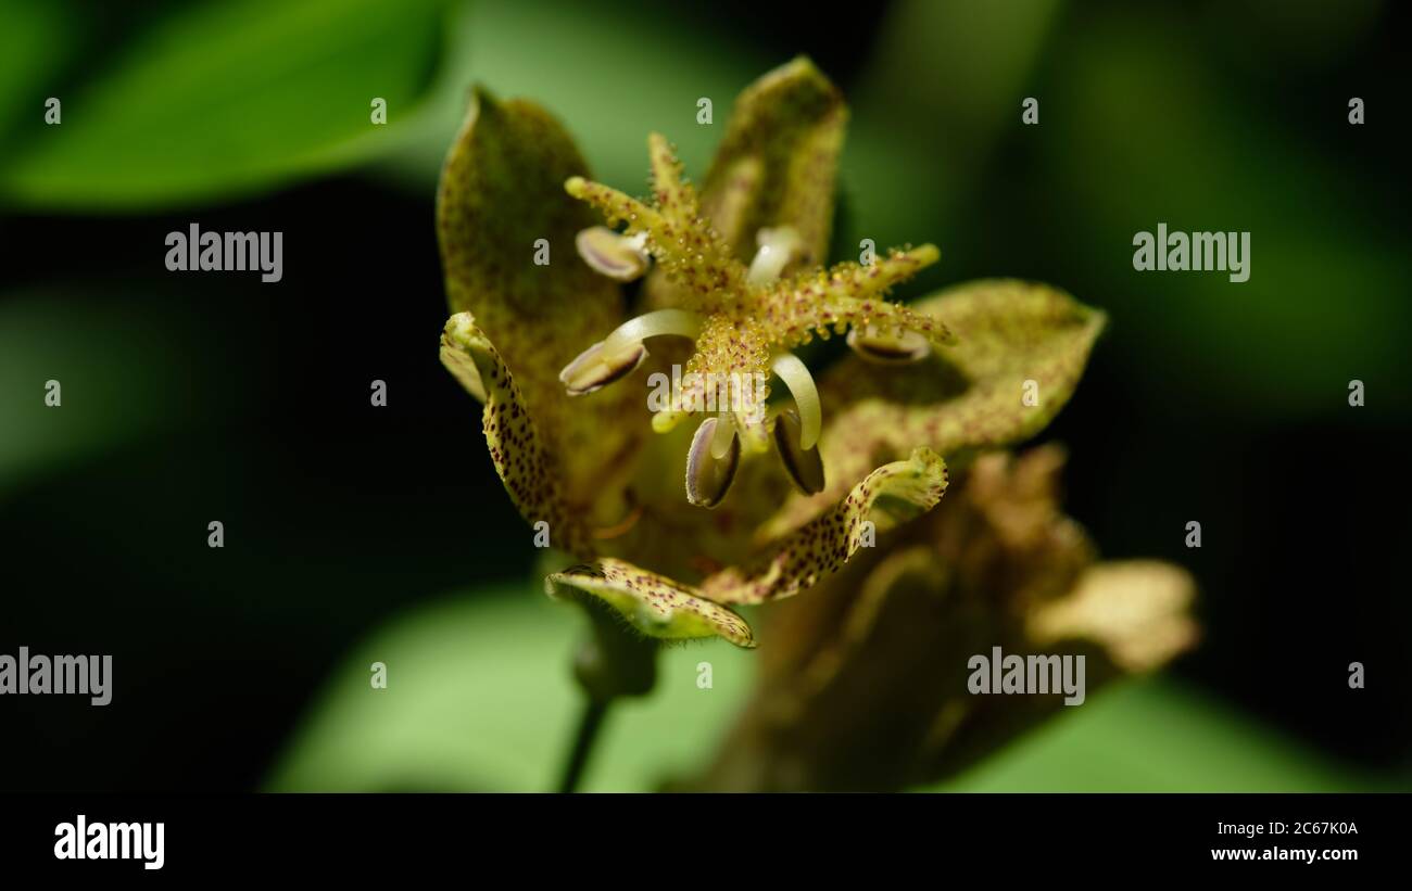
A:
[[[730,567],[702,582],[719,603],[760,603],[794,596],[837,571],[871,534],[931,510],[946,492],[946,462],[928,448],[877,468],[813,522],[744,567]]]

